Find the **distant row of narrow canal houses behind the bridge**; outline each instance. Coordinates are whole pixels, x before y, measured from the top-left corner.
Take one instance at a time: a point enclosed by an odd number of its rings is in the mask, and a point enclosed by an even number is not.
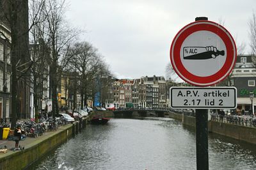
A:
[[[108,84],[106,107],[166,108],[169,107],[169,89],[172,82],[163,76],[122,79]]]

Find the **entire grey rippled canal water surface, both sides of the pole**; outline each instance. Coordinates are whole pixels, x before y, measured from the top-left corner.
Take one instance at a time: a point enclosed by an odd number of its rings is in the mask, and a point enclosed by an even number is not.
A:
[[[87,125],[31,169],[196,169],[193,128],[170,118]],[[209,169],[256,169],[256,147],[209,134]]]

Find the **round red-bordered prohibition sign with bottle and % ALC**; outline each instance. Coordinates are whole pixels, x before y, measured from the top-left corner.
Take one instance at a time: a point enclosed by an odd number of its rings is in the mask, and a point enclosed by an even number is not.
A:
[[[181,79],[195,86],[211,86],[232,72],[236,43],[215,22],[200,20],[180,29],[170,48],[170,59]]]

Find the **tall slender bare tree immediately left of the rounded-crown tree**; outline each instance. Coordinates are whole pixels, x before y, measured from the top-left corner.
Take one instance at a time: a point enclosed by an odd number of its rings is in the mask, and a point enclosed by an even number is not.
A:
[[[45,4],[45,42],[50,47],[49,75],[52,100],[52,117],[58,114],[57,88],[60,81],[61,71],[67,65],[67,52],[70,43],[76,39],[79,31],[71,29],[65,20],[67,6],[65,0],[49,0]],[[58,76],[59,75],[59,76]]]

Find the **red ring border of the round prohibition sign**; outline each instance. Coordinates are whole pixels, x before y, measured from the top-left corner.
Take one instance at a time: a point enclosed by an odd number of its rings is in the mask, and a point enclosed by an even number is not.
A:
[[[222,68],[213,75],[206,77],[194,75],[193,73],[190,73],[181,62],[180,50],[182,50],[182,43],[189,35],[196,31],[211,31],[219,36],[225,43],[227,49],[226,61]],[[219,24],[207,20],[196,21],[183,27],[180,29],[179,33],[177,33],[171,45],[170,59],[173,69],[184,81],[196,86],[210,86],[225,79],[225,77],[232,71],[232,68],[236,63],[236,43],[230,33],[228,33],[227,29]]]

